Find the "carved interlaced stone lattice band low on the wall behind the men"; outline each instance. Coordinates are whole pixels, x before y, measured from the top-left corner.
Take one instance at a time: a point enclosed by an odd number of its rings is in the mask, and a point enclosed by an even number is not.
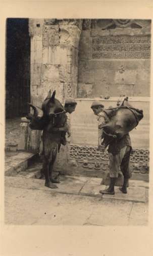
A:
[[[70,145],[69,159],[73,166],[86,169],[106,171],[109,165],[109,154],[104,156],[104,150],[97,150],[95,146]],[[134,148],[130,157],[131,171],[134,173],[148,173],[149,150]]]

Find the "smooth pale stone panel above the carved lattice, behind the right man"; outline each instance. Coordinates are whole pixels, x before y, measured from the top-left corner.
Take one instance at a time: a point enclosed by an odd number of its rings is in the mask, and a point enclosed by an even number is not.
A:
[[[109,100],[97,99],[107,109],[109,106],[116,107],[118,98]],[[141,101],[140,101],[141,100]],[[144,117],[136,129],[130,132],[132,146],[134,148],[149,149],[149,99],[129,98],[130,104],[138,109],[143,109]],[[77,99],[75,113],[71,115],[71,143],[78,145],[97,146],[97,120],[91,110],[93,99]]]

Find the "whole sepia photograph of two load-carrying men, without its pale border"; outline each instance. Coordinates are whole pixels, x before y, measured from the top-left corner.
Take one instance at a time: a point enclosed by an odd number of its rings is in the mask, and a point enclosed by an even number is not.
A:
[[[151,19],[8,17],[5,35],[5,224],[146,227]]]

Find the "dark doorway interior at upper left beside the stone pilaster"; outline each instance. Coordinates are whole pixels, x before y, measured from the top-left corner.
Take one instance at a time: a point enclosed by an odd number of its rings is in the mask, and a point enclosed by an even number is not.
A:
[[[30,37],[28,19],[7,19],[6,45],[6,118],[29,112]]]

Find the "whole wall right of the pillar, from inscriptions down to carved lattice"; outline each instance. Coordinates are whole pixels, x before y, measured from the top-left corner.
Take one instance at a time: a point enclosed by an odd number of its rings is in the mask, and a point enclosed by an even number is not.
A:
[[[84,20],[79,44],[78,99],[71,117],[71,165],[83,175],[103,176],[108,161],[97,151],[97,121],[90,106],[101,101],[106,108],[129,97],[144,118],[131,135],[134,154],[131,170],[148,173],[150,20]],[[120,100],[121,100],[120,98]],[[122,98],[124,99],[124,97]],[[138,156],[139,155],[139,156]],[[141,159],[140,159],[141,158]]]

